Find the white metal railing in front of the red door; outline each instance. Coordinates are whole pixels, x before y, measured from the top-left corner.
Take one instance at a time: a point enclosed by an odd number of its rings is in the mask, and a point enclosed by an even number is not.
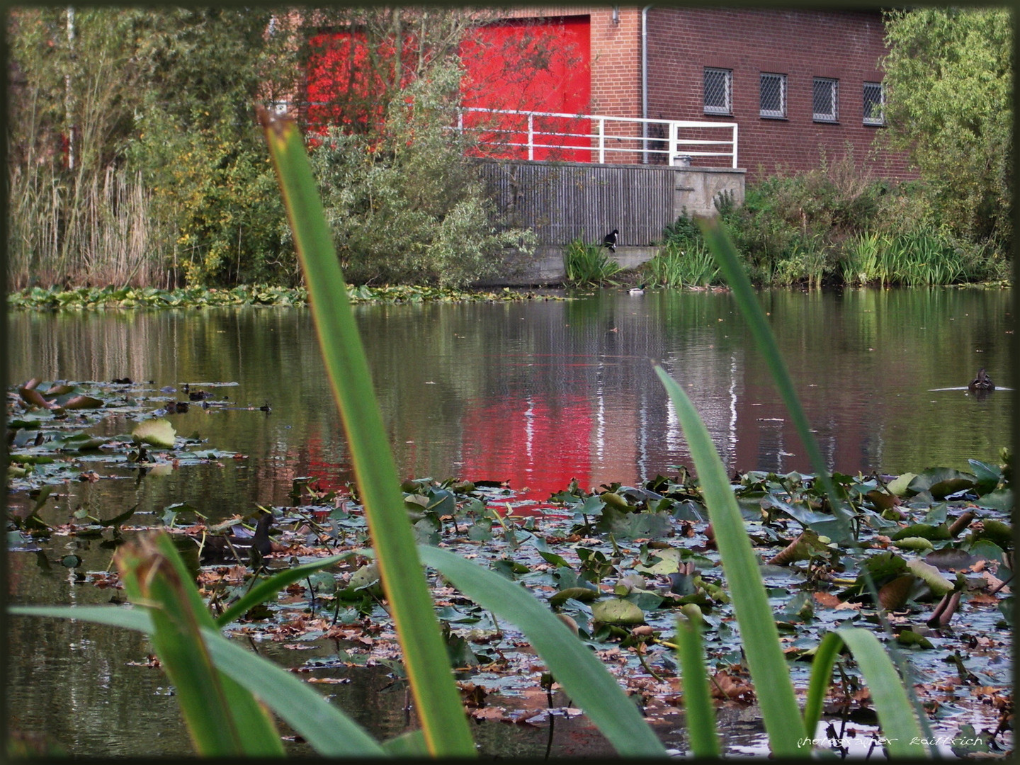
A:
[[[507,126],[494,119],[492,123],[465,124],[465,113],[519,116],[524,118],[524,123],[519,126]],[[570,120],[572,124],[583,124],[585,120],[591,120],[593,130],[590,133],[573,133],[569,132],[569,128],[553,130],[548,124],[544,124],[550,120]],[[607,125],[610,126],[609,131],[607,131]],[[649,135],[656,125],[659,126],[661,135]],[[478,132],[483,145],[526,148],[528,159],[534,159],[537,150],[588,151],[589,156],[593,158],[590,161],[600,163],[606,162],[607,155],[629,153],[641,154],[643,162],[648,162],[650,155],[665,155],[670,165],[691,164],[691,160],[695,157],[729,157],[730,166],[736,167],[735,122],[710,122],[697,119],[641,119],[599,114],[565,114],[549,111],[465,107],[459,112],[457,128],[458,130]],[[713,136],[723,132],[729,135],[725,138],[708,139],[702,135],[706,132]],[[630,135],[631,133],[638,135]],[[505,136],[505,139],[492,140],[487,139],[487,136]],[[522,140],[517,140],[517,137],[521,137]],[[580,144],[569,144],[563,143],[562,140],[556,141],[556,139],[585,139],[586,141]],[[665,144],[665,148],[657,148],[662,144]],[[598,156],[598,160],[594,160],[595,156]]]

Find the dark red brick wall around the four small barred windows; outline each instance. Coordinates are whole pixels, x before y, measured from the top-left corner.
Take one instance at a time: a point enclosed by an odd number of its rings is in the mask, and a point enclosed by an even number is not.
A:
[[[831,163],[848,144],[856,163],[877,176],[914,176],[902,155],[876,150],[883,129],[863,124],[863,83],[881,82],[879,60],[886,53],[878,11],[652,8],[648,30],[648,116],[735,120],[738,163],[749,181],[817,167],[823,154]],[[592,39],[595,51],[594,14]],[[706,66],[732,69],[731,117],[705,114]],[[761,72],[786,75],[785,119],[759,115]],[[815,76],[839,81],[837,123],[812,119]],[[640,72],[635,80],[640,89]]]

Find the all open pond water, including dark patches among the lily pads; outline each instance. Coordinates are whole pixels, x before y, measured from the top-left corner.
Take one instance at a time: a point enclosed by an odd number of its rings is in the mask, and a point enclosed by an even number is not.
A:
[[[898,474],[999,462],[1010,443],[1013,394],[977,397],[966,385],[979,367],[1001,388],[1011,385],[1010,292],[761,297],[830,468]],[[516,501],[541,506],[571,479],[591,490],[671,474],[691,463],[653,361],[688,392],[731,472],[809,470],[728,293],[605,290],[558,298],[356,307],[405,477],[507,481]],[[177,432],[240,453],[145,479],[72,483],[47,510],[55,522],[83,508],[108,518],[137,506],[158,517],[185,501],[217,519],[291,504],[295,478],[308,476],[321,491],[351,479],[307,309],[26,312],[8,320],[11,384],[130,377],[132,395],[152,409],[186,399],[189,384],[212,398],[168,415]],[[122,417],[94,429],[128,431]],[[99,545],[55,544],[50,557],[73,551],[82,570],[109,565],[110,552]],[[105,603],[113,595],[31,553],[8,557],[11,602]],[[45,731],[74,754],[189,751],[170,690],[145,666],[142,639],[78,622],[9,624],[13,727]],[[259,650],[295,666],[308,659],[274,646]],[[353,683],[336,672],[330,695],[373,730],[402,730],[405,688],[382,671],[366,684],[365,671]],[[733,752],[759,735],[752,726],[742,740],[741,722],[730,726]],[[488,751],[545,753],[545,733],[538,741],[514,726],[483,727]],[[584,749],[583,728],[570,730],[560,724],[565,737],[555,752],[598,751]]]

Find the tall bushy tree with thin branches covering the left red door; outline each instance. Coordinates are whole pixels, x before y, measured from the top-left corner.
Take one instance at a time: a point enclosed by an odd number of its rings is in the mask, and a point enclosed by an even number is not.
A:
[[[473,139],[455,130],[461,49],[478,13],[316,11],[303,109],[312,166],[347,278],[464,286],[498,273],[506,228],[487,198]]]

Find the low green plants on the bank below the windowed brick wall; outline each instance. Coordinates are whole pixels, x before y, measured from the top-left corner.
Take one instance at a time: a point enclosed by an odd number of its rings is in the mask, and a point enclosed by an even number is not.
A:
[[[757,285],[946,285],[1005,279],[1009,260],[991,242],[968,241],[920,182],[876,181],[853,152],[822,155],[812,170],[772,175],[747,189],[745,203],[719,200],[719,219]],[[705,284],[703,240],[681,216],[663,231],[649,280]],[[685,253],[677,259],[675,248]],[[692,257],[692,255],[694,257]]]

